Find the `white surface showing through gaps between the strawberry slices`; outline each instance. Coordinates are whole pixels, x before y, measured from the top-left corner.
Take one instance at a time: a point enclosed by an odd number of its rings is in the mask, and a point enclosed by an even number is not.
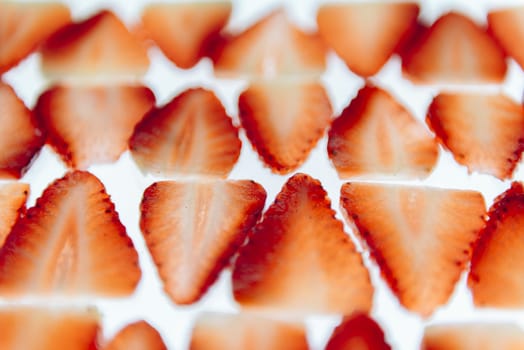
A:
[[[111,5],[108,5],[108,3]],[[139,18],[140,10],[145,1],[67,1],[75,18],[83,18],[101,8],[111,8],[128,24],[132,25]],[[229,27],[231,30],[240,30],[260,18],[271,8],[282,5],[286,7],[290,17],[300,26],[311,29],[315,27],[315,11],[318,1],[234,1],[234,10]],[[440,14],[449,10],[457,10],[468,14],[479,23],[485,23],[488,9],[504,4],[519,3],[518,1],[452,1],[428,0],[422,1],[422,16],[431,22]],[[520,2],[522,3],[522,2]],[[164,104],[184,89],[193,86],[204,86],[213,89],[221,98],[227,111],[238,125],[236,100],[239,93],[246,87],[242,81],[217,80],[212,75],[212,66],[208,60],[203,60],[194,69],[183,71],[176,68],[160,53],[158,49],[150,50],[151,68],[145,77],[144,83],[156,94],[157,102]],[[25,103],[32,107],[39,94],[49,86],[40,73],[40,58],[37,54],[31,55],[18,67],[6,73],[3,79],[11,84]],[[372,81],[394,94],[421,121],[432,97],[438,92],[436,87],[414,86],[404,80],[400,72],[398,58],[392,58],[383,70]],[[334,115],[354,97],[364,81],[349,72],[344,64],[333,54],[329,56],[328,70],[323,77],[326,89],[331,97]],[[451,88],[451,87],[440,87]],[[457,87],[453,87],[456,89]],[[517,101],[521,101],[524,89],[524,74],[513,62],[510,62],[508,77],[502,86],[459,87],[460,89],[487,90],[492,92],[503,91]],[[242,153],[230,178],[253,179],[262,184],[268,192],[266,207],[269,205],[281,186],[290,176],[277,176],[270,173],[259,161],[256,153],[247,141],[243,131],[240,132],[243,142]],[[89,169],[105,184],[107,191],[116,204],[120,218],[128,229],[140,254],[140,263],[143,270],[142,281],[132,298],[125,300],[76,300],[66,303],[75,305],[95,305],[102,314],[104,334],[112,336],[123,325],[138,319],[145,319],[155,326],[162,334],[169,348],[183,349],[187,346],[191,327],[195,316],[202,311],[235,311],[238,307],[233,303],[230,292],[230,273],[222,273],[220,280],[209,290],[206,296],[197,304],[190,307],[174,305],[162,291],[156,270],[146,251],[144,241],[138,229],[138,206],[143,190],[156,179],[143,176],[136,168],[131,157],[126,152],[121,159],[110,165],[93,166]],[[54,179],[61,177],[66,169],[61,161],[45,147],[33,167],[24,176],[22,181],[31,184],[29,205],[41,194],[43,189]],[[337,210],[337,217],[342,220],[338,208],[339,191],[343,181],[330,164],[326,153],[326,137],[324,137],[311,153],[307,162],[298,170],[321,180],[328,191]],[[519,167],[515,179],[523,178],[523,171]],[[411,182],[412,184],[414,182]],[[481,191],[489,206],[494,196],[504,191],[509,182],[499,181],[491,176],[468,175],[464,167],[456,165],[449,153],[442,151],[439,163],[433,174],[422,182],[446,188],[464,188]],[[349,227],[346,230],[350,233]],[[388,342],[395,349],[416,349],[422,336],[423,327],[431,323],[465,320],[500,320],[516,321],[524,325],[524,313],[503,312],[490,310],[476,310],[472,306],[471,297],[462,279],[450,303],[439,309],[429,319],[421,319],[417,315],[406,312],[391,295],[382,282],[373,263],[365,255],[366,264],[371,269],[372,281],[376,287],[372,315],[381,324],[386,332]],[[62,304],[63,300],[54,300],[53,303]],[[308,337],[312,348],[322,348],[331,333],[332,327],[338,323],[338,317],[312,317],[307,320]]]

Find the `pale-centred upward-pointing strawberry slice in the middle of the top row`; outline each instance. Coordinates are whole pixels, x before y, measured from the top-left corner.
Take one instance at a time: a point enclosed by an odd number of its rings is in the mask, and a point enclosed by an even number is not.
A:
[[[326,52],[317,33],[302,31],[278,10],[226,38],[213,57],[216,73],[226,77],[319,77],[326,69]]]

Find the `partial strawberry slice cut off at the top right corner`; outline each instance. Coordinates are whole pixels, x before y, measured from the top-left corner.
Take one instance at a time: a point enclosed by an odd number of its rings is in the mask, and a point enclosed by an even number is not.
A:
[[[488,29],[504,51],[524,68],[524,6],[515,6],[488,13]]]

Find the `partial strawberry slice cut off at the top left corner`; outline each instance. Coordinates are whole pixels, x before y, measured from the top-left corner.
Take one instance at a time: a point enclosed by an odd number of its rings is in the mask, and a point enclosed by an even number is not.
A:
[[[58,2],[0,2],[0,73],[16,66],[70,21],[69,9]]]

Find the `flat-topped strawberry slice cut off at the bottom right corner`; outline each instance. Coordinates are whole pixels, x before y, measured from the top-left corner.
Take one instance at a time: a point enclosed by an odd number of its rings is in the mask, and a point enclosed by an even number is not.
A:
[[[420,349],[519,350],[524,349],[524,332],[506,323],[438,324],[426,327]]]

